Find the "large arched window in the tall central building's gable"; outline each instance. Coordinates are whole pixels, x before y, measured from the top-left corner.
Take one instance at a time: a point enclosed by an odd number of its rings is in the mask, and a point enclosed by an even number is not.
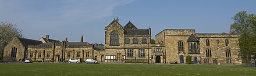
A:
[[[110,45],[119,45],[118,32],[112,32],[110,35]]]

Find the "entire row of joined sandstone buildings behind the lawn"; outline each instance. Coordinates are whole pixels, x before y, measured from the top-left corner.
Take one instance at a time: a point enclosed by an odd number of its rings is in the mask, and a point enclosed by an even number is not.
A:
[[[200,34],[189,29],[165,29],[155,35],[151,44],[151,28],[138,29],[129,21],[126,26],[114,19],[105,27],[105,45],[57,41],[49,35],[39,40],[13,38],[5,47],[3,58],[17,61],[61,62],[70,58],[95,59],[106,63],[143,61],[146,63],[241,64],[239,37],[236,34]]]

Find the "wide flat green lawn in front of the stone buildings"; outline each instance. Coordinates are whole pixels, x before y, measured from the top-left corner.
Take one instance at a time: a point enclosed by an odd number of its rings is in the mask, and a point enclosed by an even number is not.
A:
[[[1,63],[0,75],[256,75],[256,67],[166,64]]]

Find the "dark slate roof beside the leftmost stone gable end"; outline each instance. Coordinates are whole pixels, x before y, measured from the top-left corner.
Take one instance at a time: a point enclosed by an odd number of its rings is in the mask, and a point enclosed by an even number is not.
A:
[[[20,42],[22,42],[24,46],[42,44],[41,41],[37,41],[33,39],[27,39],[27,38],[18,38],[18,39],[20,40]]]

